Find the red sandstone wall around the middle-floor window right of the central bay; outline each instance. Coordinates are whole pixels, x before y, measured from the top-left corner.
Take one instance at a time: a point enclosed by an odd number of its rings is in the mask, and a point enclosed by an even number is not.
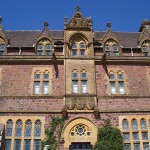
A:
[[[138,65],[107,65],[106,68],[102,65],[96,65],[96,84],[97,95],[107,96],[106,91],[109,88],[107,84],[106,69],[107,68],[120,68],[125,71],[127,95],[129,96],[150,96],[149,86],[150,80],[148,79],[147,69],[150,66],[138,66]]]

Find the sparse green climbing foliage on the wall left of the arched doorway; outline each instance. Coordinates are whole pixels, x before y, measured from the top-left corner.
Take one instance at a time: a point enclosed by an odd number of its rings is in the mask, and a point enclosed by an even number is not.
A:
[[[45,145],[50,145],[49,150],[56,150],[57,144],[60,141],[61,132],[64,126],[64,118],[52,117],[50,129],[45,130],[47,139],[42,141],[41,150]]]

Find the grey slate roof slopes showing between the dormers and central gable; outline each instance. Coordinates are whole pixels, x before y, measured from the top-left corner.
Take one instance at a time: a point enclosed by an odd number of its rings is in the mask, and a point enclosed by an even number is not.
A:
[[[64,39],[64,31],[49,31],[55,40]],[[36,38],[41,33],[37,31],[6,31],[7,38],[10,39],[10,47],[32,47],[36,43]],[[120,40],[123,47],[136,48],[141,32],[113,32]],[[94,32],[94,39],[100,40],[105,32]]]

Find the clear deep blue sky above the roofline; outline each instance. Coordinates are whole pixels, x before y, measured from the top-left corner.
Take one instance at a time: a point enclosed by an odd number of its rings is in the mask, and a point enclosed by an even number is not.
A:
[[[92,17],[93,30],[136,32],[143,19],[150,20],[150,0],[1,0],[0,16],[5,30],[41,30],[43,21],[50,30],[63,30],[64,16],[74,15],[75,6],[84,17]]]

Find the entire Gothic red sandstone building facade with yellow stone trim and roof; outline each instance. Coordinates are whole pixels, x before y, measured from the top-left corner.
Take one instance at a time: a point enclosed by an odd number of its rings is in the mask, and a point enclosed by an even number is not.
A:
[[[0,20],[0,22],[2,19]],[[150,22],[138,32],[94,32],[79,8],[63,31],[0,25],[1,149],[39,150],[52,116],[64,116],[59,150],[91,149],[105,119],[125,150],[150,143]]]

